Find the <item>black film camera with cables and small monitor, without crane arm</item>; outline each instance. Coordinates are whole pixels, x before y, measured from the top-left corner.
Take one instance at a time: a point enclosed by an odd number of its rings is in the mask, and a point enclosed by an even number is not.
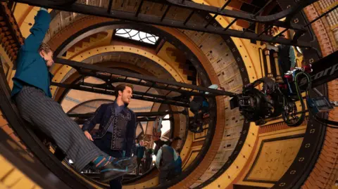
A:
[[[230,100],[230,108],[239,107],[241,114],[249,122],[263,125],[269,120],[280,119],[280,116],[289,126],[299,126],[306,117],[306,106],[303,100],[305,93],[306,103],[313,113],[332,110],[332,103],[325,96],[310,98],[308,91],[311,86],[311,65],[296,67],[284,75],[284,82],[277,83],[272,78],[257,79],[243,87],[243,91]],[[257,89],[259,85],[261,90]],[[299,101],[301,108],[297,108]],[[299,110],[300,109],[300,110]]]

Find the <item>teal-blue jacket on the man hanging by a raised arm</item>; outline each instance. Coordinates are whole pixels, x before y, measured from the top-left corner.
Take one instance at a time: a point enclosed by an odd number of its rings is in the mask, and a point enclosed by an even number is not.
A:
[[[35,24],[30,29],[30,35],[21,46],[16,60],[17,69],[13,77],[13,90],[11,96],[23,89],[24,85],[35,86],[51,97],[51,78],[44,59],[39,55],[39,46],[49,28],[51,15],[47,11],[38,11],[35,16]]]

